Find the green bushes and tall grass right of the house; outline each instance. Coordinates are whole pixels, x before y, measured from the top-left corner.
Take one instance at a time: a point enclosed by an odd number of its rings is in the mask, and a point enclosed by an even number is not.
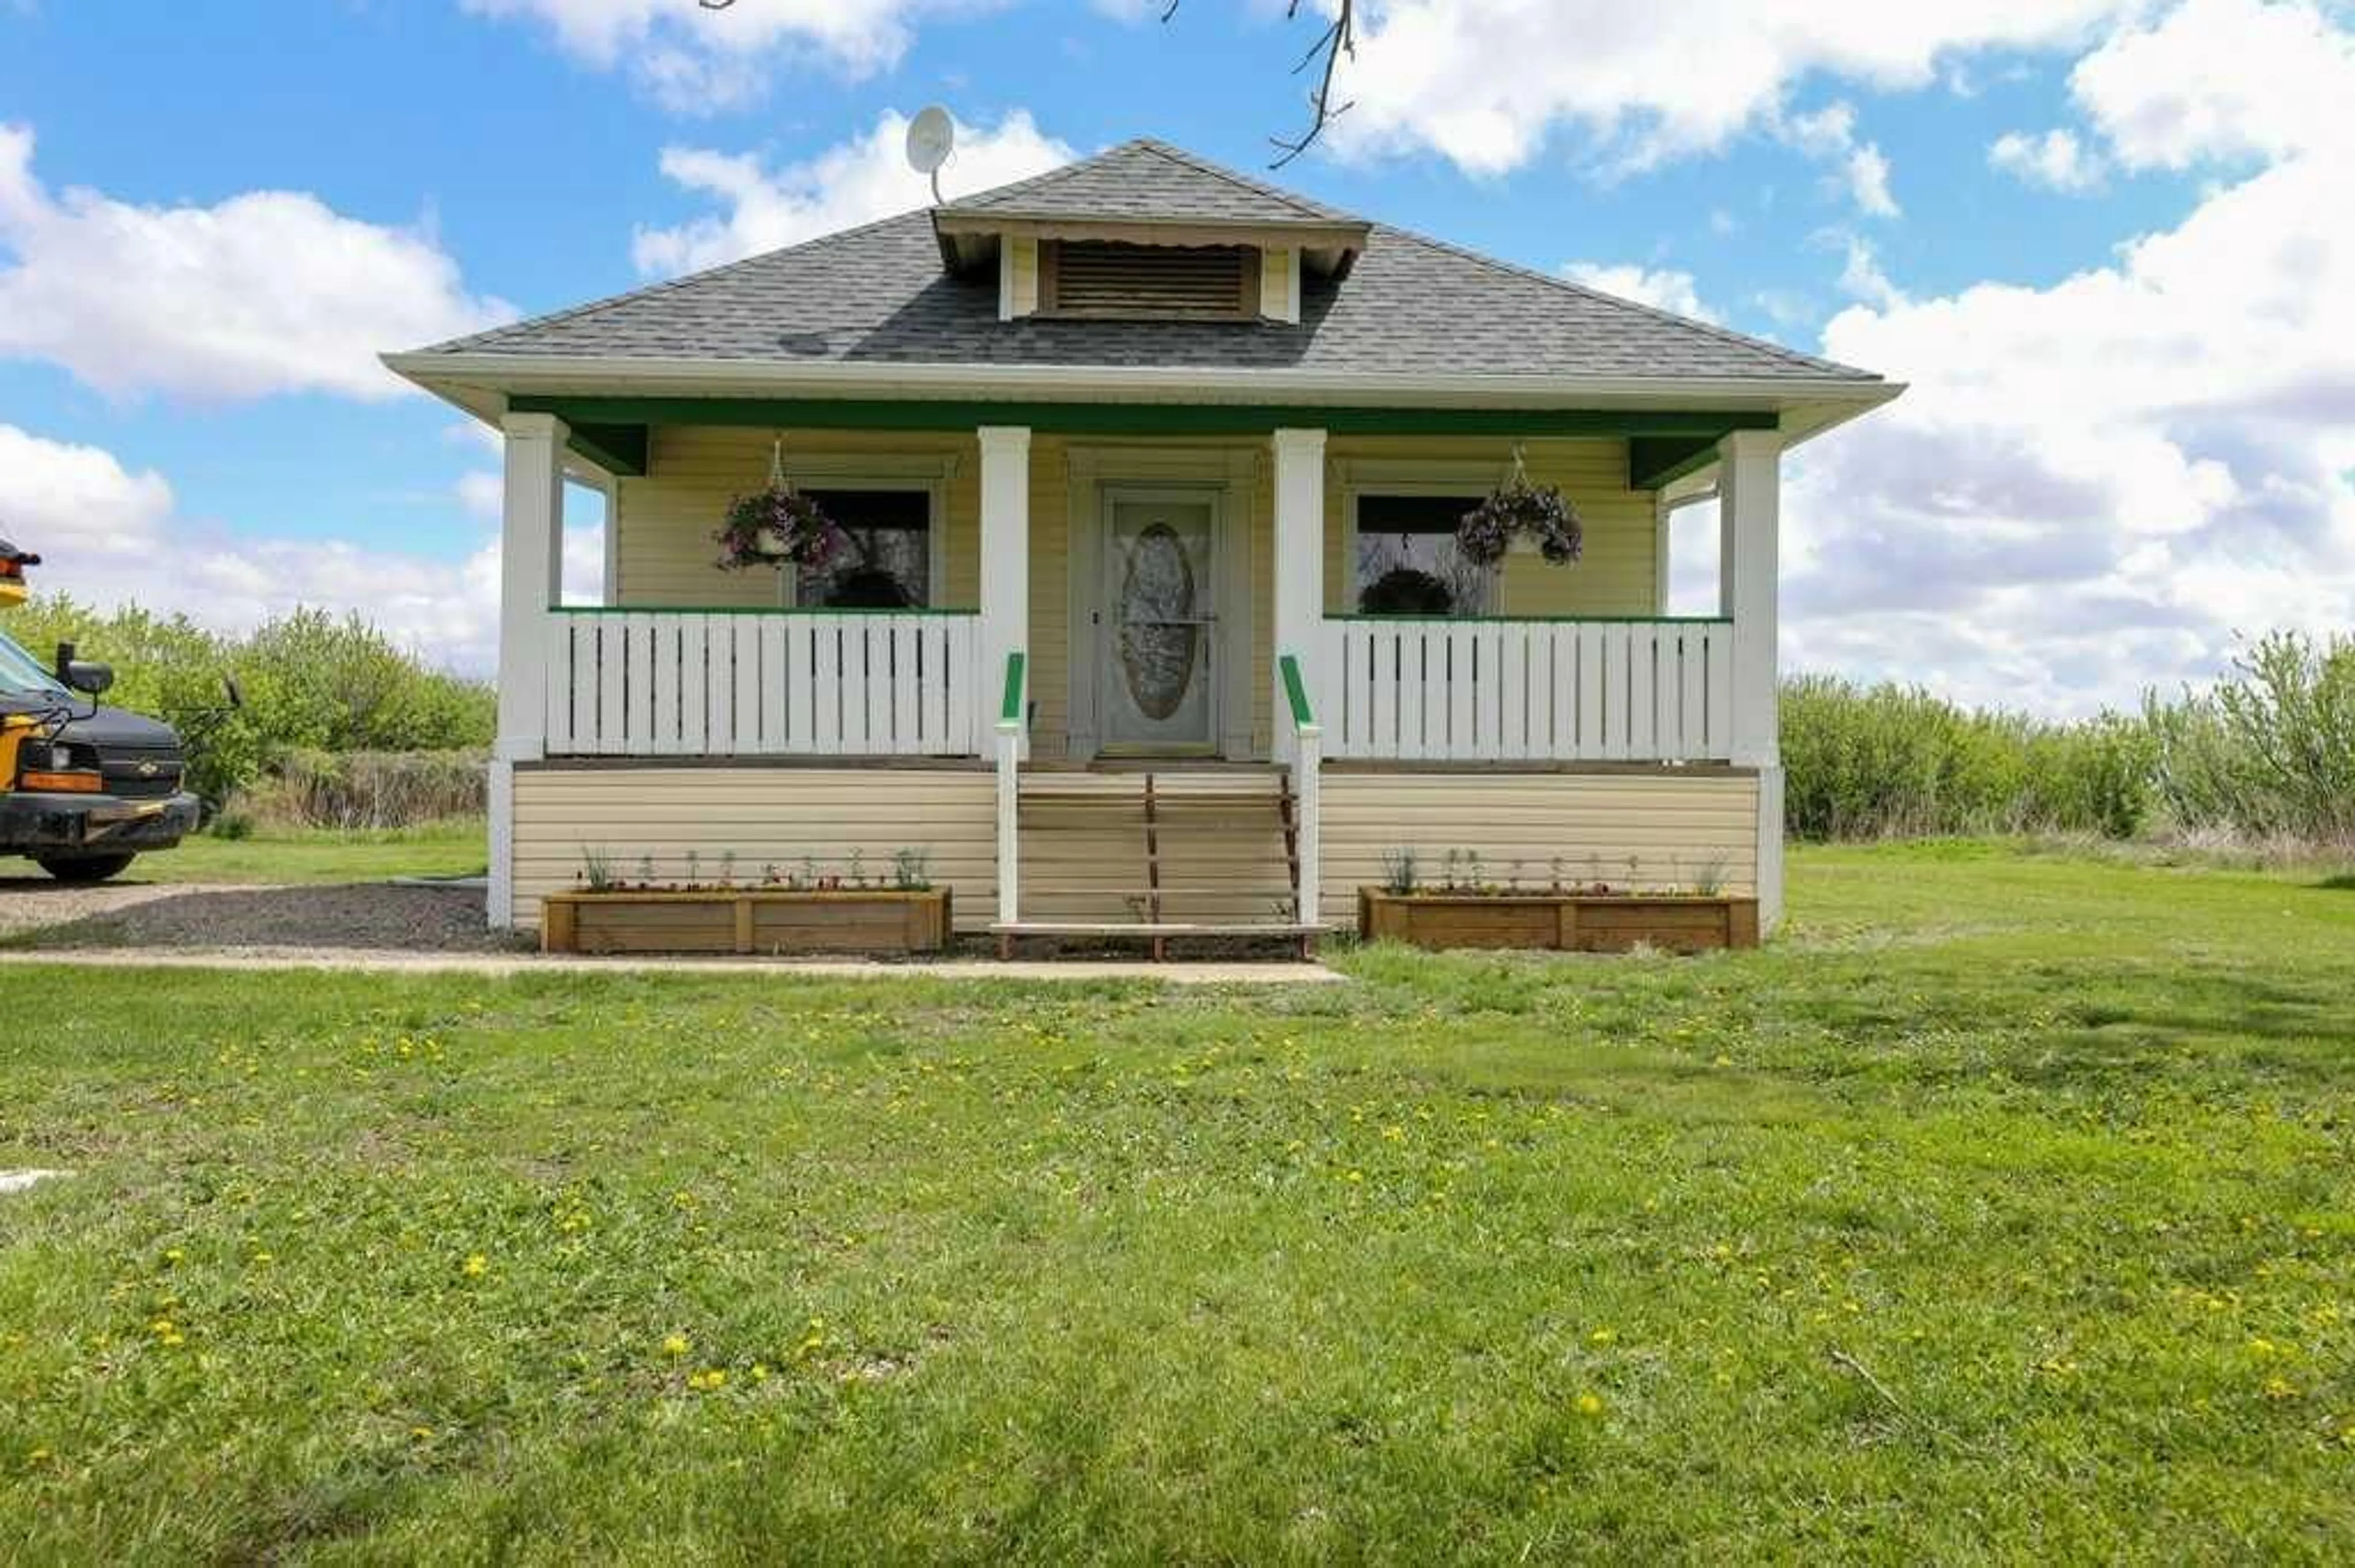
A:
[[[1797,838],[2204,833],[2355,845],[2355,640],[2275,633],[2204,692],[2054,723],[1919,687],[1783,685]]]

